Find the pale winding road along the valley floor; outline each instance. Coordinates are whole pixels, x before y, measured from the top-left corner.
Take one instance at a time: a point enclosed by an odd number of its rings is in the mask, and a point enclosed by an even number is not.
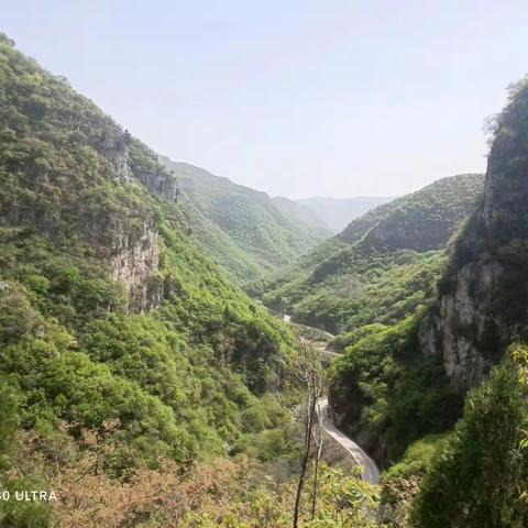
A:
[[[284,316],[284,320],[286,322],[292,322],[292,318],[289,316]],[[293,323],[294,324],[294,323]],[[310,328],[310,327],[305,327]],[[317,328],[312,328],[314,331],[318,332],[319,334],[324,334],[328,339],[326,344],[322,346],[318,346],[319,353],[327,358],[339,358],[341,354],[330,350],[328,348],[328,343],[334,339],[334,336],[328,332],[322,332]],[[356,465],[363,468],[363,480],[370,482],[371,484],[377,484],[380,482],[380,470],[371,457],[365,453],[363,449],[361,449],[358,443],[355,443],[351,438],[349,438],[343,431],[339,430],[332,422],[331,416],[328,413],[328,397],[321,398],[318,402],[319,413],[321,415],[321,425],[324,432],[332,438],[342,449],[349,453],[349,455],[354,460]]]

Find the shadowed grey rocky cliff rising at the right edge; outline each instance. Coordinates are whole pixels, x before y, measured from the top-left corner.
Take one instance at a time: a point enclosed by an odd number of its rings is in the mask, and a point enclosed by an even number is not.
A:
[[[528,339],[528,85],[496,118],[485,194],[460,234],[419,339],[459,386],[479,384],[506,346]]]

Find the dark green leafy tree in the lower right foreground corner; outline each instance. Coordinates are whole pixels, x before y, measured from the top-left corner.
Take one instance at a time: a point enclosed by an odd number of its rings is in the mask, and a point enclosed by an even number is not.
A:
[[[528,522],[528,350],[514,346],[466,400],[415,501],[417,526],[521,528]]]

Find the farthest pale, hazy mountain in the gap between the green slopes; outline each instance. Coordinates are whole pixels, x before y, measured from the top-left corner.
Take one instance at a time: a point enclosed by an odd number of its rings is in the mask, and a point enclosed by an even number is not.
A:
[[[353,198],[327,198],[315,196],[295,200],[306,207],[328,226],[333,234],[342,231],[354,218],[361,217],[370,209],[393,200],[377,196],[359,196]]]

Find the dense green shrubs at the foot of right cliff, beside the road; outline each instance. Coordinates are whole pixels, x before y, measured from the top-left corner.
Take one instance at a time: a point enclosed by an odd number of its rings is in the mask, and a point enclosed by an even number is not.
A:
[[[331,367],[332,405],[342,413],[343,427],[384,464],[459,417],[463,395],[450,385],[442,359],[419,352],[422,312],[393,326],[364,327]]]

